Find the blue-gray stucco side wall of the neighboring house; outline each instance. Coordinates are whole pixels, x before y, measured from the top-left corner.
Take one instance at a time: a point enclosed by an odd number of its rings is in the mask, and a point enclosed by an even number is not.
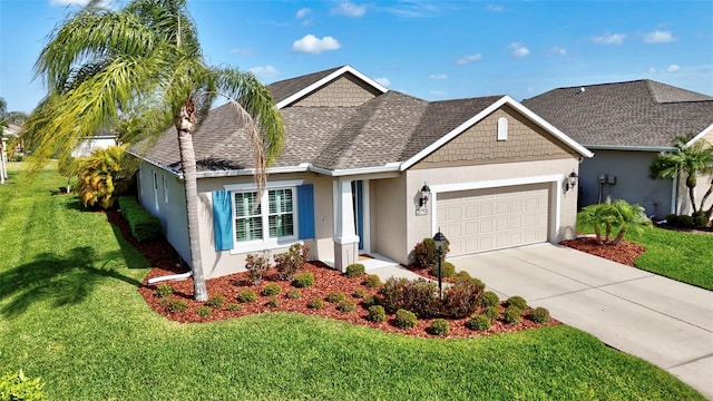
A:
[[[672,213],[673,180],[653,179],[648,166],[655,151],[594,150],[594,157],[579,167],[579,207],[596,204],[607,196],[642,205],[646,215],[664,218]],[[605,184],[599,184],[599,176]],[[612,178],[616,177],[616,178]],[[611,183],[611,184],[609,184]]]

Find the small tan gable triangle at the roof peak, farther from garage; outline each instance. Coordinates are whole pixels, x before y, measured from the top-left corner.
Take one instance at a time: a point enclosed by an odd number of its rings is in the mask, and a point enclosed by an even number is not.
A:
[[[353,107],[373,99],[379,94],[351,74],[344,74],[295,101],[292,107]]]

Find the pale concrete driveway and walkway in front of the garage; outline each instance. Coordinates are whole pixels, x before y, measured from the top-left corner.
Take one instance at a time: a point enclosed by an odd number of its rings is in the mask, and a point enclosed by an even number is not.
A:
[[[553,317],[646,360],[713,400],[713,292],[575,250],[538,244],[449,258],[501,299],[520,295]],[[406,268],[370,271],[387,278]]]

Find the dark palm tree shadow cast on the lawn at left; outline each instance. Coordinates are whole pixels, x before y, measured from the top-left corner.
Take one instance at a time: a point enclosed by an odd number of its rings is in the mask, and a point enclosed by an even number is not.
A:
[[[138,281],[117,272],[120,262],[120,252],[97,255],[88,246],[75,247],[66,257],[41,253],[33,262],[0,273],[0,301],[11,299],[0,313],[17,316],[43,301],[51,301],[55,307],[78,304],[107,278],[139,286]]]

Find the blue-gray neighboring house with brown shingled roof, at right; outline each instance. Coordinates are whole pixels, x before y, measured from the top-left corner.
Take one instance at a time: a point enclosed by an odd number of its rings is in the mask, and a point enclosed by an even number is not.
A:
[[[595,153],[579,168],[579,206],[612,198],[649,216],[691,214],[683,180],[653,179],[648,166],[673,139],[713,144],[713,97],[653,80],[554,89],[522,104]],[[701,176],[696,202],[711,183]]]

